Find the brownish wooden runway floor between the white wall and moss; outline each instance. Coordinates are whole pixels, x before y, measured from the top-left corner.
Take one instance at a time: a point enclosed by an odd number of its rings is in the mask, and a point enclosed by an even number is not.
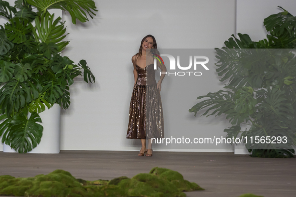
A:
[[[0,152],[0,175],[30,177],[64,169],[86,180],[133,177],[153,167],[180,172],[204,191],[187,196],[235,197],[254,193],[264,197],[296,196],[296,158],[252,158],[248,155],[209,152],[61,151],[60,154]]]

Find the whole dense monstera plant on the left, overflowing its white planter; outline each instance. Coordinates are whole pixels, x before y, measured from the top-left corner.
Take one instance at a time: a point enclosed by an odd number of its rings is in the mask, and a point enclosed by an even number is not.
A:
[[[65,22],[50,9],[68,11],[73,24],[97,11],[92,0],[17,0],[14,7],[0,0],[0,16],[9,20],[0,26],[0,136],[20,153],[40,143],[39,113],[55,103],[69,107],[69,87],[82,70],[85,82],[95,82],[85,60],[61,56],[69,44]]]

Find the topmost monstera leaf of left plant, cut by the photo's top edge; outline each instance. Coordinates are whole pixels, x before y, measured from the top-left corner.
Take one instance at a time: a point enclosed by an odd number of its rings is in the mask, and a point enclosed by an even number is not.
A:
[[[92,17],[97,12],[93,0],[27,0],[27,3],[36,7],[41,13],[48,9],[67,10],[71,17],[72,23],[76,24],[76,19],[84,23],[88,21],[87,14]]]

